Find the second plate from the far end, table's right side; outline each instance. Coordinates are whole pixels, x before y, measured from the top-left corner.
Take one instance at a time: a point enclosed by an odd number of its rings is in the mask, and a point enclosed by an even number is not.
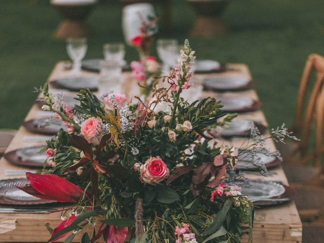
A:
[[[206,89],[215,91],[235,91],[250,89],[254,86],[254,83],[250,78],[245,76],[219,75],[205,78],[203,80],[203,86]]]

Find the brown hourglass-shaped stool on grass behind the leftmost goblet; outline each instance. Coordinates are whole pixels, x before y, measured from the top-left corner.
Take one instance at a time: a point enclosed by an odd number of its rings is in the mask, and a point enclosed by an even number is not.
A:
[[[97,0],[52,0],[51,4],[63,18],[54,37],[58,39],[89,37],[93,31],[87,25],[86,19],[96,3]]]

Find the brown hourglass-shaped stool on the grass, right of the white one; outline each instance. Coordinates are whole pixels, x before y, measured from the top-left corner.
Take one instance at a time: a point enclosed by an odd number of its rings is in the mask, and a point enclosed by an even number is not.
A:
[[[187,0],[194,8],[197,17],[190,30],[193,36],[214,36],[226,31],[221,14],[229,0]]]

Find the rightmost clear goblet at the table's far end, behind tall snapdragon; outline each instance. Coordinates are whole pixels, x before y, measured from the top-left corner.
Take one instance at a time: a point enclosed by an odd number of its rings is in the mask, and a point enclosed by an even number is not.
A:
[[[158,57],[163,61],[163,72],[170,72],[170,68],[176,65],[175,55],[179,54],[178,41],[176,39],[158,39],[156,51]]]

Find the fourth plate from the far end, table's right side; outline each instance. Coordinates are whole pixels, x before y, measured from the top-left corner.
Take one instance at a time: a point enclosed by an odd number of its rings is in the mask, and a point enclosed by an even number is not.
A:
[[[249,137],[252,128],[257,128],[261,134],[266,131],[266,127],[261,123],[245,119],[233,119],[226,128],[216,128],[211,131],[216,137],[231,138],[231,137]]]

